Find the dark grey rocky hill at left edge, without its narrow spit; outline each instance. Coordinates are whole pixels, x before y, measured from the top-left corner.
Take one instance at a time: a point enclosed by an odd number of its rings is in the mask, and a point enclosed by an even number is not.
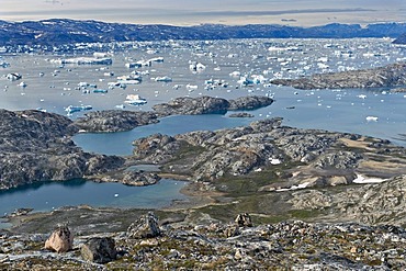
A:
[[[92,155],[78,148],[70,139],[78,129],[65,116],[34,110],[0,110],[0,189],[83,178],[124,163],[123,158]]]

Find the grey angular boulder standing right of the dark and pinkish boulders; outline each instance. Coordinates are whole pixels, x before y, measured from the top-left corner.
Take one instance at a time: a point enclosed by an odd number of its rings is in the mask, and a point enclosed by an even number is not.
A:
[[[129,225],[127,235],[131,238],[154,238],[161,235],[158,225],[158,217],[149,212],[147,215],[140,216],[137,221]]]

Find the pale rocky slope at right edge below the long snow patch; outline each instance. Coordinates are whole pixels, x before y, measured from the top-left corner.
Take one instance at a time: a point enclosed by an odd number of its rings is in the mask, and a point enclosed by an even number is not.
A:
[[[387,179],[342,191],[304,190],[292,193],[293,208],[317,212],[328,210],[325,219],[351,221],[363,224],[406,224],[406,176]]]

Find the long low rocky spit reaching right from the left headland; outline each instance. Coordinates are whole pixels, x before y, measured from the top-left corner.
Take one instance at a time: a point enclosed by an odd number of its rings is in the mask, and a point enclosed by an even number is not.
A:
[[[168,103],[153,106],[153,112],[109,110],[90,112],[75,121],[75,127],[82,132],[122,132],[137,126],[159,122],[158,117],[169,115],[225,114],[233,110],[255,110],[272,104],[268,97],[243,97],[227,101],[222,98],[176,98]]]

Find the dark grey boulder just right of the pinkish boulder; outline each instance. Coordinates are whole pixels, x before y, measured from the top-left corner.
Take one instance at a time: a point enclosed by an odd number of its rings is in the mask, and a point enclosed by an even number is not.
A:
[[[80,253],[87,261],[106,263],[117,257],[114,239],[111,237],[94,237],[86,241]]]

